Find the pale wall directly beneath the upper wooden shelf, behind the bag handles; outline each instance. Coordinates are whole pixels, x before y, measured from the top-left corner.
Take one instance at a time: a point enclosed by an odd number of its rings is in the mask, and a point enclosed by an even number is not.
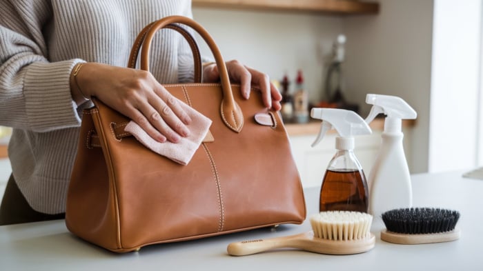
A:
[[[215,8],[193,8],[193,17],[213,36],[225,60],[238,59],[277,80],[287,72],[292,82],[302,68],[309,98],[322,98],[324,57],[342,32],[341,17]],[[209,53],[201,42],[200,47]]]

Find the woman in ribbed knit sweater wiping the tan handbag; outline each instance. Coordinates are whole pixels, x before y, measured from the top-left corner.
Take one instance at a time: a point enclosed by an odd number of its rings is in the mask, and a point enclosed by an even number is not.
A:
[[[193,59],[181,35],[162,31],[153,44],[151,73],[123,68],[148,23],[191,17],[188,0],[0,0],[0,125],[14,128],[12,177],[0,225],[63,217],[81,112],[95,96],[135,120],[157,141],[186,137],[190,119],[162,83],[191,81]],[[267,107],[282,98],[266,74],[227,62],[248,98],[250,84]],[[75,76],[74,76],[75,74]],[[204,81],[217,81],[214,65]]]

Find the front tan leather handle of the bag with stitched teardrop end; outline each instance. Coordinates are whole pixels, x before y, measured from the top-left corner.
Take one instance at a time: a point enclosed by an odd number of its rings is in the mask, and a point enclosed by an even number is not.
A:
[[[144,39],[141,38],[141,40],[139,41],[139,44],[142,43],[141,65],[140,65],[141,70],[149,70],[150,46],[156,32],[162,28],[172,28],[169,26],[172,25],[173,23],[181,23],[186,26],[189,26],[190,28],[193,28],[193,30],[198,32],[198,34],[208,44],[208,47],[213,53],[213,57],[215,57],[215,62],[217,64],[219,77],[221,80],[221,90],[223,91],[223,99],[221,100],[221,105],[220,105],[221,118],[223,119],[225,125],[228,128],[230,128],[230,130],[233,130],[235,132],[242,131],[244,117],[243,117],[242,109],[238,106],[238,104],[235,102],[235,98],[233,97],[233,92],[230,85],[230,78],[228,77],[228,70],[226,69],[225,61],[221,56],[221,52],[219,51],[218,46],[213,40],[213,37],[211,37],[211,35],[208,33],[208,31],[206,31],[205,28],[203,28],[199,23],[197,23],[193,19],[190,19],[188,17],[182,17],[182,16],[169,16],[169,17],[164,17],[163,19],[159,19],[158,21],[155,21],[150,25],[146,26],[146,28],[148,29],[146,30],[146,34],[144,34]],[[178,29],[175,29],[175,30],[178,30]],[[186,38],[187,36],[184,35],[184,37]],[[193,50],[193,47],[192,47],[192,50]],[[201,66],[201,61],[199,61],[199,64]],[[196,65],[195,65],[195,68],[196,68]]]

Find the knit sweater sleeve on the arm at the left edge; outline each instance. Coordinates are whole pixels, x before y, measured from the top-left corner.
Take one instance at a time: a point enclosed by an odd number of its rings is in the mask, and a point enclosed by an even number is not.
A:
[[[0,125],[36,132],[79,126],[70,71],[81,59],[50,63],[43,30],[48,1],[2,0]]]

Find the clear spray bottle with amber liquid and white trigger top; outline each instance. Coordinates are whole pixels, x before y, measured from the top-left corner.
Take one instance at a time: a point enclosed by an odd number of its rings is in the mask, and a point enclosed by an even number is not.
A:
[[[320,188],[319,210],[367,212],[366,176],[353,150],[354,136],[371,134],[371,128],[358,114],[344,109],[313,108],[311,117],[322,119],[322,127],[313,147],[328,130],[334,128],[339,133],[339,137],[335,138],[337,152],[328,164]]]

